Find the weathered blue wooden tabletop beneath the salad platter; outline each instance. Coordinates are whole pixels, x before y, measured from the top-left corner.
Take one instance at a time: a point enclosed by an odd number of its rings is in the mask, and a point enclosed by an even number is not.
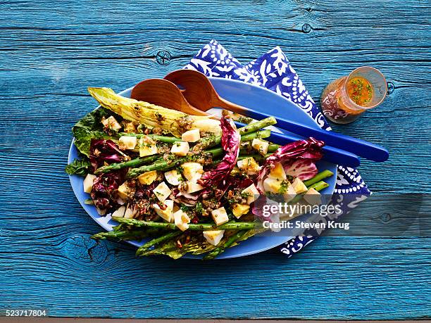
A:
[[[430,193],[430,16],[418,0],[2,1],[0,311],[430,318],[430,238],[322,238],[291,259],[137,259],[89,239],[100,227],[64,173],[70,127],[95,106],[87,86],[161,77],[217,39],[243,63],[281,46],[316,101],[358,66],[382,70],[385,103],[335,129],[389,149],[386,163],[361,165],[370,189]]]

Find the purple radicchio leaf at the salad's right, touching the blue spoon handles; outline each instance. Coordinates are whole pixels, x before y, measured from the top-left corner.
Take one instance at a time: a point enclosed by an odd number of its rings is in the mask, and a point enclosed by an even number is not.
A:
[[[313,177],[317,173],[314,162],[322,158],[322,147],[324,145],[325,143],[323,141],[310,137],[309,139],[294,141],[278,148],[275,153],[266,158],[266,162],[261,172],[259,172],[256,179],[258,189],[262,192],[264,191],[263,179],[265,179],[270,170],[275,167],[275,163],[282,163],[284,167],[287,167],[287,170],[292,172],[293,176],[299,177],[299,179],[305,180]],[[296,162],[298,163],[296,164]],[[303,163],[301,167],[299,167],[299,162]]]

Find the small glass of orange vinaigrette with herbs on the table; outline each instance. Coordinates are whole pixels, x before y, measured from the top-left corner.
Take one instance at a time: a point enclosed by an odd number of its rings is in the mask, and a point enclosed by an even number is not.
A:
[[[336,123],[350,123],[385,99],[387,83],[381,72],[364,66],[349,76],[327,84],[320,98],[326,118]]]

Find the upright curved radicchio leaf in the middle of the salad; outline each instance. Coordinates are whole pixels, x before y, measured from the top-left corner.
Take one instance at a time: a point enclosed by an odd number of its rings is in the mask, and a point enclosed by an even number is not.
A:
[[[227,118],[220,119],[220,127],[223,131],[221,144],[226,154],[217,167],[213,170],[208,170],[208,172],[205,172],[201,179],[199,179],[199,184],[206,188],[219,186],[218,184],[222,183],[227,178],[230,172],[232,172],[233,167],[237,164],[239,144],[241,141],[241,136],[239,136],[237,127],[235,127],[232,120]]]

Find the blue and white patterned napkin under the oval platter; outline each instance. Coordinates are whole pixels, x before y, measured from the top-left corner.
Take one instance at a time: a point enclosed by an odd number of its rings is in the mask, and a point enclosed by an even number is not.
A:
[[[211,40],[185,68],[199,70],[206,76],[224,77],[266,87],[296,103],[316,120],[321,128],[330,130],[325,117],[278,46],[247,65],[242,65],[223,46]],[[338,166],[333,201],[342,206],[343,214],[349,213],[349,210],[355,208],[370,194],[358,170]],[[315,239],[315,236],[296,236],[280,246],[280,250],[288,257],[292,257]]]

